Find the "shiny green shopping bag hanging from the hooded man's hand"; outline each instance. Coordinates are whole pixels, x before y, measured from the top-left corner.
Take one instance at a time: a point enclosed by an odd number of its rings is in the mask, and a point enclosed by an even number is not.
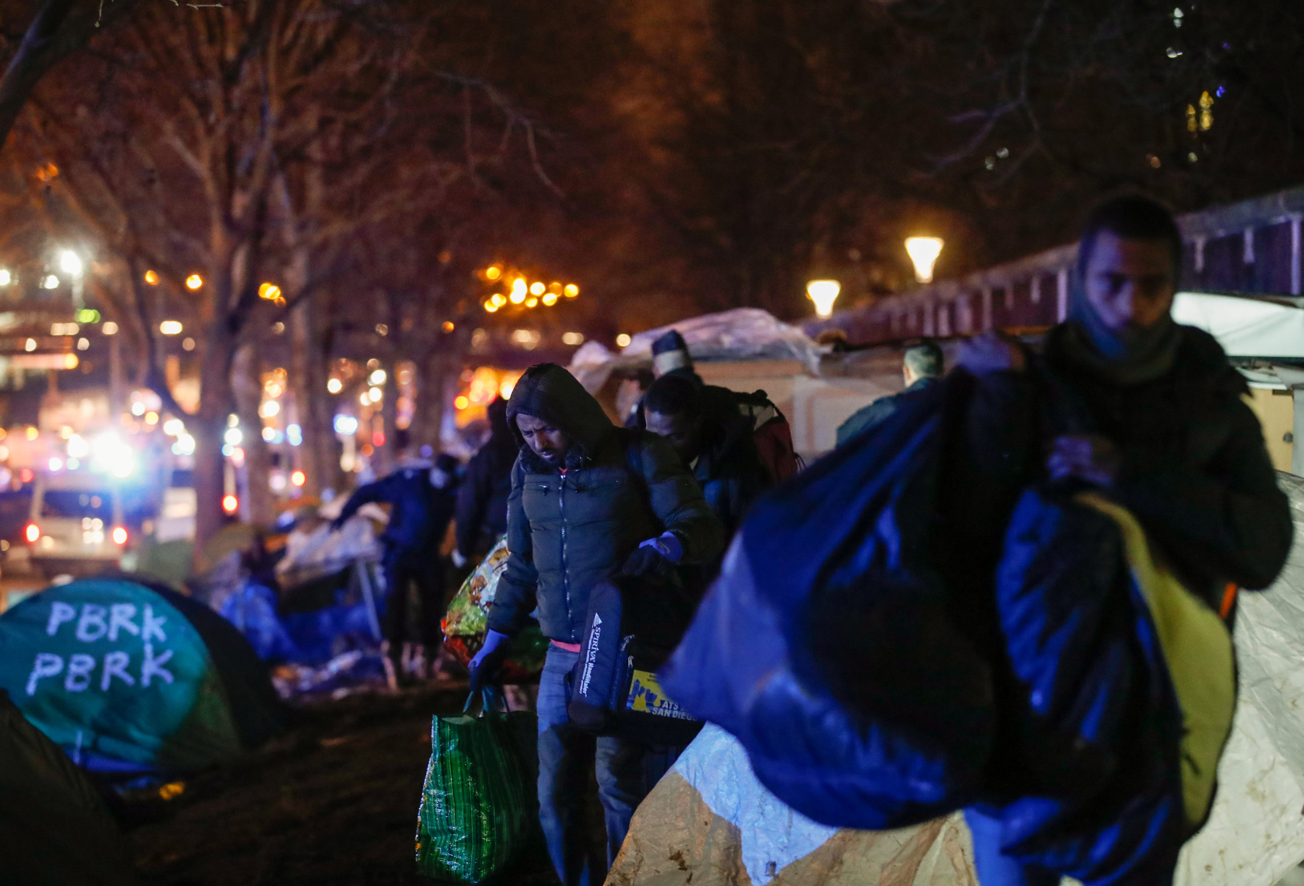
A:
[[[469,709],[471,700],[467,700]],[[417,872],[479,883],[511,864],[537,829],[535,715],[486,691],[479,715],[436,717],[417,812]]]

